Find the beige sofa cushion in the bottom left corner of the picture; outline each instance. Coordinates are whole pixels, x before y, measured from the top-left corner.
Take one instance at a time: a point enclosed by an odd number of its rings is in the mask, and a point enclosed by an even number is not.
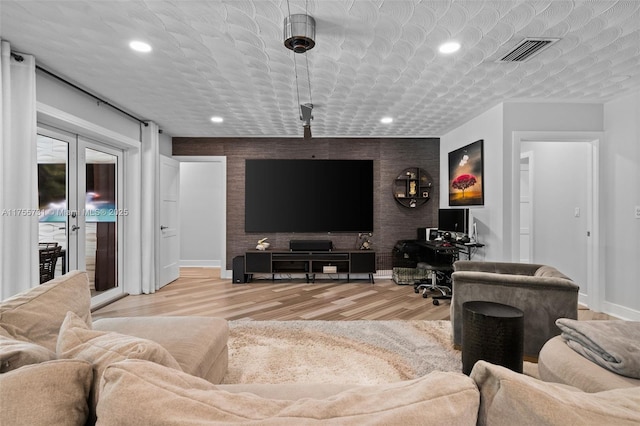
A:
[[[0,425],[84,425],[91,364],[56,360],[0,374]]]

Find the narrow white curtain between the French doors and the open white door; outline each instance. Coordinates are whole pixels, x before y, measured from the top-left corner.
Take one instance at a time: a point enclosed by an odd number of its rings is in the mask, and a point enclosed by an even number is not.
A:
[[[142,292],[155,293],[158,289],[158,188],[160,181],[160,136],[158,125],[149,122],[142,127],[142,182],[141,182],[141,258]]]

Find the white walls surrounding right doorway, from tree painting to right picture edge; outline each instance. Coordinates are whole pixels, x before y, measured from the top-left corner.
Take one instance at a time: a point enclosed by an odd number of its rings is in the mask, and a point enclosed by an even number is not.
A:
[[[606,104],[505,103],[441,137],[441,162],[453,149],[485,140],[485,206],[473,214],[491,227],[487,260],[512,260],[512,182],[514,132],[603,132],[600,143],[600,205],[604,271],[600,272],[600,310],[640,320],[640,91]],[[499,170],[495,170],[499,169]],[[447,194],[447,167],[441,168],[441,193]],[[574,202],[580,202],[574,200]],[[446,197],[441,197],[446,207]],[[485,232],[485,233],[486,233]],[[482,238],[482,234],[481,234]],[[543,238],[543,237],[541,237]],[[557,238],[546,237],[552,244]],[[517,241],[517,238],[515,239]],[[480,257],[479,260],[482,260]],[[585,265],[585,269],[587,265]],[[604,282],[602,282],[604,281]]]

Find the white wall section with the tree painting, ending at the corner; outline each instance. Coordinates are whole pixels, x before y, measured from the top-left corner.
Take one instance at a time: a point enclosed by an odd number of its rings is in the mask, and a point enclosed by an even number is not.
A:
[[[478,224],[479,249],[473,260],[503,260],[503,106],[498,105],[440,138],[440,208],[449,207],[449,152],[483,139],[484,206],[470,206]]]

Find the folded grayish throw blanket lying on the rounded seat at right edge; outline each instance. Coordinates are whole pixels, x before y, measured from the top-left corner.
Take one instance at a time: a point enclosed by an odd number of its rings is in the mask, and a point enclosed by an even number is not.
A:
[[[556,320],[569,347],[622,376],[640,379],[640,322]]]

